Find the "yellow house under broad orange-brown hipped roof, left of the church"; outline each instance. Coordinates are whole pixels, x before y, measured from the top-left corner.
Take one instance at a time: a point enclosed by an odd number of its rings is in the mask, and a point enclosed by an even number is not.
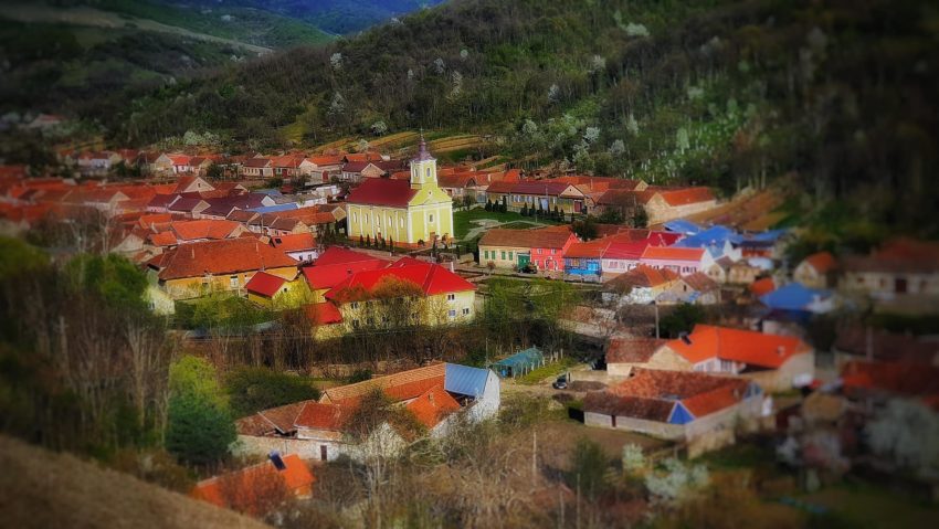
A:
[[[150,295],[157,307],[169,300],[190,299],[208,292],[242,294],[255,273],[293,281],[297,262],[286,253],[253,237],[226,239],[182,244],[147,263],[156,276]]]

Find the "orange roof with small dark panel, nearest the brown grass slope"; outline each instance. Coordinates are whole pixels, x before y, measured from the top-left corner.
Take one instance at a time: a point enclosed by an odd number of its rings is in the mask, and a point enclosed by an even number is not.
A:
[[[270,461],[259,463],[241,470],[199,482],[189,494],[192,498],[201,499],[219,507],[236,507],[253,515],[262,515],[262,505],[270,498],[256,496],[259,490],[270,488],[265,485],[268,479],[283,480],[286,489],[297,496],[310,494],[310,487],[316,482],[309,467],[296,454],[282,456],[285,468],[278,470]]]

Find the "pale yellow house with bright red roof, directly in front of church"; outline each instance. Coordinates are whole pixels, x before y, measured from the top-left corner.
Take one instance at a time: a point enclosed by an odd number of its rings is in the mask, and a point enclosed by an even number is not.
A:
[[[404,257],[351,274],[325,295],[346,331],[471,320],[476,286],[441,265]]]

